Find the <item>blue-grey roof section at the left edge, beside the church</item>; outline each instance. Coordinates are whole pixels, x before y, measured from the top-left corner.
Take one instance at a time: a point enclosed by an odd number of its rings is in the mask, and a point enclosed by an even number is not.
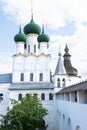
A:
[[[12,83],[12,73],[0,74],[0,83]]]

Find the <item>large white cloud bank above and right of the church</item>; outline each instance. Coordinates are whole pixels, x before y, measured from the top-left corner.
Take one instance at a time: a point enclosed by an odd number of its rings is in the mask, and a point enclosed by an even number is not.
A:
[[[1,0],[2,9],[12,21],[24,25],[31,18],[31,0]],[[87,72],[87,0],[33,0],[34,19],[42,24],[44,21],[49,29],[51,44],[49,52],[52,54],[52,68],[56,66],[59,44],[64,54],[65,44],[68,43],[72,64],[79,70],[79,74]],[[43,20],[44,19],[44,20]],[[57,33],[68,23],[74,22],[75,30],[72,35]]]

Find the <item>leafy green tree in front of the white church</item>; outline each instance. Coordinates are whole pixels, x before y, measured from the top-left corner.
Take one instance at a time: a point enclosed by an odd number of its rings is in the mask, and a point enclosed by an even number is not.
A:
[[[11,100],[12,109],[2,116],[0,130],[35,130],[46,129],[44,116],[48,111],[43,108],[36,95],[29,94],[20,102]]]

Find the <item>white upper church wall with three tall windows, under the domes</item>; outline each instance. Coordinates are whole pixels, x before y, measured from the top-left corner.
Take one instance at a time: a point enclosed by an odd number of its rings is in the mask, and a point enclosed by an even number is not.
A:
[[[13,77],[12,82],[21,82],[20,75],[24,73],[24,82],[30,82],[30,73],[33,73],[33,82],[40,82],[39,75],[43,73],[43,81],[50,82],[50,57],[40,56],[16,56],[13,59]]]

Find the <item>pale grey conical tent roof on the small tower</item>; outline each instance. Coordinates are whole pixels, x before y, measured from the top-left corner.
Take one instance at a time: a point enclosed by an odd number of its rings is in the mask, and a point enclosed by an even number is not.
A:
[[[66,71],[65,71],[65,68],[63,66],[61,53],[59,52],[58,55],[59,55],[59,59],[58,59],[57,66],[56,66],[54,74],[55,75],[65,75]]]

